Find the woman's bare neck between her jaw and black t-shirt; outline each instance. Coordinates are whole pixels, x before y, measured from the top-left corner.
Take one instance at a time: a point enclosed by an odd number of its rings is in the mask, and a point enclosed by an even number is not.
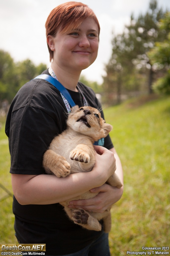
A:
[[[66,88],[71,91],[77,92],[77,83],[79,81],[80,73],[72,73],[66,71],[58,66],[56,66],[53,62],[51,63],[51,68],[53,69],[58,81]]]

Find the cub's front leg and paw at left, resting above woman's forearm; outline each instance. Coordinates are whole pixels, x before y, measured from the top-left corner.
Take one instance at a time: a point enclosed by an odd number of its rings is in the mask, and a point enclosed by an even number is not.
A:
[[[57,177],[66,177],[70,174],[70,164],[66,158],[55,153],[53,150],[47,150],[43,156],[43,166],[48,174],[55,174]]]

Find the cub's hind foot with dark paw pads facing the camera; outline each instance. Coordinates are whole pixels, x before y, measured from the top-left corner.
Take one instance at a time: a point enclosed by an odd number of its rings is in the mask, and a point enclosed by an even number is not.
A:
[[[95,231],[101,230],[98,220],[93,218],[87,211],[83,209],[68,209],[67,207],[64,207],[64,209],[70,219],[83,228]]]

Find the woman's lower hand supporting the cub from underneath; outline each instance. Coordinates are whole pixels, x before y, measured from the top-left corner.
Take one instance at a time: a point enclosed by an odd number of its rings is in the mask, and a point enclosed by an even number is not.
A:
[[[91,199],[74,200],[69,202],[69,208],[79,209],[82,208],[86,211],[103,213],[106,209],[111,207],[121,198],[123,194],[123,187],[116,188],[108,184],[103,184],[100,187],[92,188],[92,193],[99,193]]]

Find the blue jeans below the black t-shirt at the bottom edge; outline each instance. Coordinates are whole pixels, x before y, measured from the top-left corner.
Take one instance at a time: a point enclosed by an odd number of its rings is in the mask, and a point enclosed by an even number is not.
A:
[[[45,256],[50,256],[46,255]],[[56,256],[110,256],[108,234],[103,233],[96,241],[78,252]]]

